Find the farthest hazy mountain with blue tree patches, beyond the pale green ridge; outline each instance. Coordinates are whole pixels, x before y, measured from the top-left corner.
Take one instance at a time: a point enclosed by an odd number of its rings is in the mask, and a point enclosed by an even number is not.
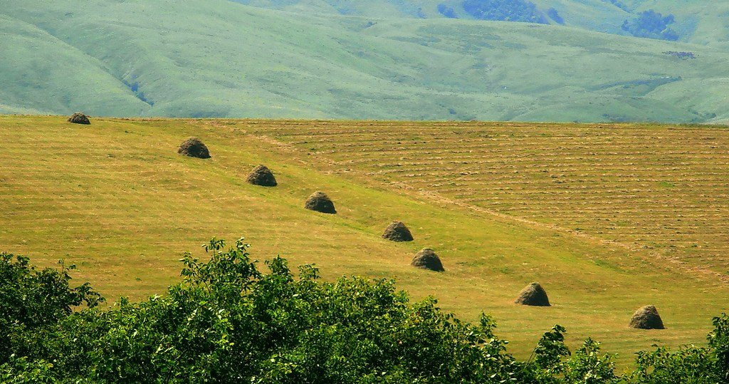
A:
[[[368,18],[461,18],[548,23],[729,47],[729,1],[704,0],[232,0],[254,7]],[[666,26],[654,15],[671,18]],[[640,23],[641,28],[623,28]],[[638,33],[634,33],[637,31]],[[652,32],[652,34],[650,34]],[[669,38],[673,39],[673,38]]]

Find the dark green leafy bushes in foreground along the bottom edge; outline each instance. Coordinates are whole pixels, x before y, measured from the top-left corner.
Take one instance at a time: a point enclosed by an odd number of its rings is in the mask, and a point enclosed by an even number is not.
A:
[[[262,272],[243,239],[212,239],[211,258],[182,258],[165,296],[106,309],[66,269],[37,271],[3,254],[2,383],[545,383],[608,384],[613,356],[592,339],[570,353],[561,326],[516,361],[495,323],[464,323],[392,280],[319,279],[274,258]],[[85,308],[73,311],[73,307]],[[706,347],[642,353],[629,383],[725,383],[729,317]],[[686,379],[686,380],[682,380]],[[693,381],[690,381],[690,380]],[[671,381],[673,380],[673,381]],[[713,381],[712,381],[713,380]],[[722,381],[724,380],[724,381]]]

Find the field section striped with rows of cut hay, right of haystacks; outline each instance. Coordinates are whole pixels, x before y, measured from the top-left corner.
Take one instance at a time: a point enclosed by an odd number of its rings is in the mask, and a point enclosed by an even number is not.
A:
[[[270,137],[467,204],[729,272],[729,130],[517,123],[281,123]]]

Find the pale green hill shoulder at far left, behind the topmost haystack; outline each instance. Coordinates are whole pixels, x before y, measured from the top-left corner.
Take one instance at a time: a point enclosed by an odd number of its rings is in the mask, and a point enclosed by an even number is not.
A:
[[[84,108],[101,115],[141,115],[149,109],[100,61],[36,26],[0,14],[0,37],[0,112]]]

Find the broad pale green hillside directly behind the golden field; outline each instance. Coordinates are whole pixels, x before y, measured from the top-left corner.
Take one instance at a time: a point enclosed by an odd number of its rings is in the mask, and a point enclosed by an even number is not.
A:
[[[671,122],[729,112],[729,53],[561,26],[223,0],[7,1],[0,17],[0,112]]]

